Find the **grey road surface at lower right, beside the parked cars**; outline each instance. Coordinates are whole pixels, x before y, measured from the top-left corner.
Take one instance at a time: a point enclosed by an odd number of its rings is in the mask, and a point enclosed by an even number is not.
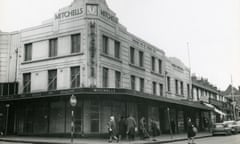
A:
[[[214,136],[196,139],[196,144],[240,144],[240,134],[231,136]],[[174,142],[171,144],[187,144],[187,141]]]

